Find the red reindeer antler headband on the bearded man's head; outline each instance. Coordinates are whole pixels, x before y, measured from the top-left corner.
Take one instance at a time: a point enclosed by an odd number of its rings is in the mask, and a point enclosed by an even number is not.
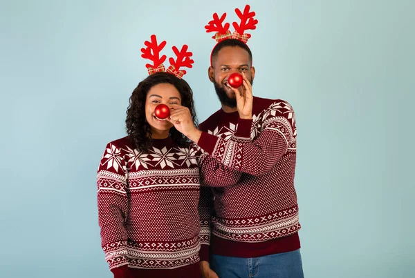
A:
[[[243,41],[243,43],[247,43],[248,39],[250,39],[251,35],[244,33],[246,30],[254,30],[257,28],[258,20],[254,19],[255,12],[250,12],[250,6],[246,5],[243,9],[243,12],[239,10],[239,8],[235,9],[237,16],[241,19],[241,23],[233,22],[232,26],[234,27],[234,32],[231,34],[229,27],[230,23],[225,23],[223,25],[223,21],[225,21],[226,12],[222,14],[219,18],[218,14],[215,12],[213,14],[213,19],[209,21],[208,25],[205,26],[206,32],[216,32],[212,39],[215,39],[217,43],[223,41],[224,39],[238,39],[239,41]],[[216,43],[216,44],[217,44]],[[210,61],[212,63],[212,54],[210,54]]]

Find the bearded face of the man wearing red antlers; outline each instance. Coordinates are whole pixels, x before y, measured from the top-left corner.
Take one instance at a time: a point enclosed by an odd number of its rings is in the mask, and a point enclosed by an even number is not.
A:
[[[252,67],[248,51],[238,46],[225,46],[213,59],[208,73],[219,101],[230,108],[237,107],[234,91],[228,84],[228,77],[233,72],[243,72],[252,84],[255,68]]]

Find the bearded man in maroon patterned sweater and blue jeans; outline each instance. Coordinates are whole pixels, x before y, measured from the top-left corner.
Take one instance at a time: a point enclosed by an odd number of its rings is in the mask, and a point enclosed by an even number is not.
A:
[[[241,20],[243,14],[255,15],[249,6],[237,14]],[[287,101],[252,97],[255,68],[241,37],[239,32],[222,38],[212,50],[208,77],[221,109],[193,136],[205,152],[240,175],[234,186],[201,190],[203,277],[304,277],[294,187],[295,113]],[[228,84],[232,72],[243,73],[239,91]]]

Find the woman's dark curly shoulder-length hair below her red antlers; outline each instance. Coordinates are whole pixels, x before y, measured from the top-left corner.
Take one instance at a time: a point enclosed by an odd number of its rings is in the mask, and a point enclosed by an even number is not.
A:
[[[129,107],[127,108],[127,119],[125,120],[127,135],[129,141],[140,152],[147,152],[151,146],[151,128],[145,118],[145,100],[149,90],[160,83],[172,84],[181,95],[181,105],[189,108],[190,114],[194,122],[194,126],[198,126],[198,120],[194,108],[193,92],[189,84],[178,77],[167,72],[156,72],[149,75],[146,79],[138,83],[137,88],[129,99]],[[190,140],[173,126],[169,130],[169,135],[178,146],[186,147],[190,145]]]

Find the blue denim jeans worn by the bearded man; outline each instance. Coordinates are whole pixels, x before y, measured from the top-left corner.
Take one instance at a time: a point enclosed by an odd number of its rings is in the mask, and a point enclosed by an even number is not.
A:
[[[257,258],[212,255],[210,268],[219,278],[304,278],[299,250]]]

